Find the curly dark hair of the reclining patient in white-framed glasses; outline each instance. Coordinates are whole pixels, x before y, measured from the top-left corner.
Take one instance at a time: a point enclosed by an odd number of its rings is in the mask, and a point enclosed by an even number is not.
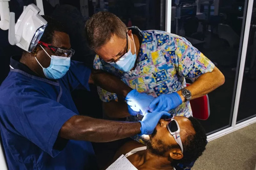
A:
[[[173,160],[173,165],[178,163],[186,164],[196,161],[198,157],[203,154],[207,144],[206,132],[199,120],[191,116],[188,117],[188,119],[190,120],[196,133],[187,136],[185,142],[182,143],[183,158],[180,160]]]

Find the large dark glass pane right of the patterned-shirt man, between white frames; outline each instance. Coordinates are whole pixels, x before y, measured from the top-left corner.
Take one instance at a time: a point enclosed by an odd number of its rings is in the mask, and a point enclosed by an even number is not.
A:
[[[225,76],[225,84],[208,94],[209,118],[200,121],[206,132],[211,134],[231,124],[245,1],[175,2],[172,3],[171,32],[190,41]]]

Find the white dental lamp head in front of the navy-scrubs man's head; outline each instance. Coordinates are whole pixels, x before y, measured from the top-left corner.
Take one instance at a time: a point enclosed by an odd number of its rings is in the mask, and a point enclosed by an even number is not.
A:
[[[47,21],[38,13],[35,4],[28,5],[15,25],[15,14],[10,12],[9,42],[27,52],[32,52],[47,26]],[[15,30],[14,30],[15,28]]]

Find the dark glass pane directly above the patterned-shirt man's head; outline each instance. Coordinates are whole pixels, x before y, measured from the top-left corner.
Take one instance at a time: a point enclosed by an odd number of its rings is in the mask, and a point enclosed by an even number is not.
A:
[[[114,13],[127,27],[137,26],[140,30],[164,30],[165,28],[165,0],[92,1],[88,17],[99,11]]]

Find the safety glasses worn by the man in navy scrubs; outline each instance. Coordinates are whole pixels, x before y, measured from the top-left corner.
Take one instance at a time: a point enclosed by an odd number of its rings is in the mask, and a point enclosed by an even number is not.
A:
[[[75,53],[75,50],[71,49],[67,50],[67,49],[62,49],[62,48],[58,48],[55,47],[51,44],[39,41],[38,44],[43,45],[45,47],[47,47],[49,50],[51,50],[56,56],[62,56],[62,57],[72,57]]]

